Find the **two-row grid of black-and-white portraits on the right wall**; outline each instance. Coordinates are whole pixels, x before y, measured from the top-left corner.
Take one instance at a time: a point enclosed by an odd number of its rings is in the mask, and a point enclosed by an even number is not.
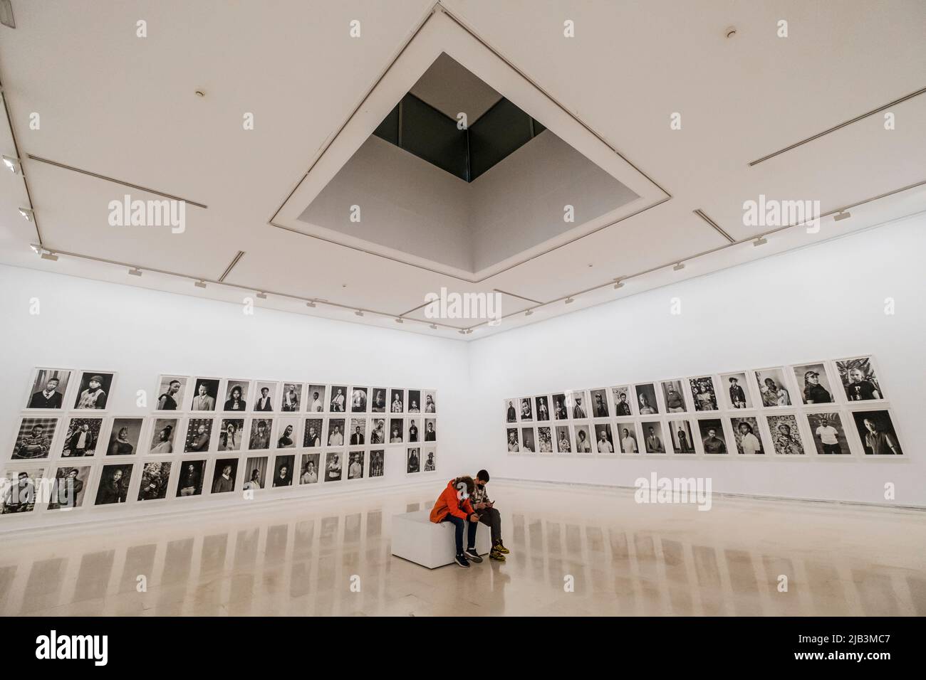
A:
[[[506,399],[509,454],[903,459],[870,355]]]

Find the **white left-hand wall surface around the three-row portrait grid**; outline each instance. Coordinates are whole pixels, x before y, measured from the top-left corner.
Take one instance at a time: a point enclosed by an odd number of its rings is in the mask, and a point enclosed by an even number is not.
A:
[[[192,285],[192,284],[191,284]],[[161,374],[203,377],[240,377],[255,380],[293,380],[320,384],[365,385],[385,388],[435,389],[438,400],[437,470],[435,473],[406,474],[406,446],[383,446],[385,469],[382,478],[364,478],[319,483],[291,489],[265,489],[256,500],[285,497],[311,498],[330,492],[362,493],[431,479],[435,488],[444,484],[444,476],[456,474],[467,452],[469,427],[465,417],[469,407],[469,363],[467,344],[458,340],[431,338],[417,333],[372,328],[309,315],[296,315],[255,305],[253,315],[244,315],[243,305],[150,291],[125,285],[74,278],[11,266],[0,266],[0,366],[7,389],[0,390],[0,456],[2,471],[15,469],[24,462],[10,463],[13,441],[24,415],[27,384],[34,366],[74,368],[91,371],[116,371],[115,388],[107,403],[106,416],[153,416],[156,414],[156,381]],[[31,314],[33,301],[39,314]],[[257,301],[259,303],[259,301]],[[136,392],[147,391],[147,406],[136,406]],[[69,401],[73,399],[69,389]],[[219,406],[219,409],[221,407]],[[56,414],[58,429],[66,427],[70,415]],[[83,414],[86,414],[84,412]],[[159,415],[163,415],[160,412]],[[220,411],[214,415],[222,416]],[[299,414],[305,418],[308,414]],[[350,417],[351,414],[344,414]],[[390,414],[383,414],[389,417]],[[367,414],[366,417],[370,417]],[[213,433],[213,437],[217,432]],[[182,434],[180,435],[182,438]],[[369,432],[368,432],[369,437]],[[60,434],[56,435],[56,441]],[[56,445],[57,446],[57,445]],[[423,446],[423,444],[419,444]],[[269,451],[272,457],[278,452]],[[319,451],[315,449],[312,451]],[[326,451],[326,447],[320,449]],[[141,475],[144,455],[105,456],[98,448],[94,464],[134,463],[132,481]],[[239,451],[228,457],[266,455],[268,452]],[[209,454],[215,457],[216,453]],[[221,453],[218,454],[222,456]],[[183,458],[191,458],[186,454]],[[195,456],[203,458],[202,454]],[[120,460],[122,459],[122,460]],[[60,462],[52,456],[45,468]],[[172,460],[180,461],[175,453]],[[324,457],[322,457],[324,460]],[[80,464],[90,464],[90,458]],[[28,461],[29,467],[41,464]],[[175,464],[176,466],[176,464]],[[465,465],[464,465],[465,467]],[[239,475],[244,474],[239,466]],[[344,468],[346,470],[346,467]],[[46,470],[45,475],[49,475]],[[181,512],[194,507],[216,507],[223,503],[240,504],[241,494],[224,494],[238,498],[216,498],[208,493],[211,472],[204,480],[202,496],[173,499],[169,489],[164,501],[130,502],[118,506],[92,508],[96,476],[86,489],[83,507],[69,511],[18,513],[0,516],[0,531],[31,523],[41,525],[109,516],[143,517],[154,512]],[[205,475],[204,475],[205,476]],[[344,473],[346,476],[346,473]],[[176,485],[176,472],[171,477]],[[136,488],[133,485],[131,488]],[[137,491],[135,491],[137,494]],[[435,491],[436,496],[436,491]],[[211,497],[211,498],[210,498]],[[149,503],[151,503],[149,505]],[[148,505],[147,508],[144,506]],[[38,510],[38,504],[36,509]]]

